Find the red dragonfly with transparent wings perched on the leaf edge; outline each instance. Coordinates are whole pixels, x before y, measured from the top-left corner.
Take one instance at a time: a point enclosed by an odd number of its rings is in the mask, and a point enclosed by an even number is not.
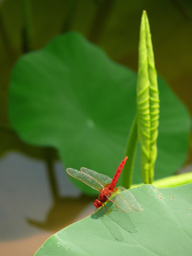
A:
[[[117,171],[115,172],[112,179],[104,174],[99,174],[96,171],[92,171],[85,167],[82,167],[80,171],[72,168],[68,168],[66,171],[73,178],[77,178],[79,181],[82,181],[91,188],[100,191],[98,199],[95,199],[94,202],[96,209],[100,206],[105,206],[107,201],[112,201],[116,207],[118,207],[124,213],[129,213],[131,208],[134,210],[142,211],[143,209],[140,203],[129,190],[126,190],[126,188],[122,186],[114,188],[122,172],[124,164],[127,161],[127,158],[128,156],[126,156],[121,164],[119,164],[119,167],[117,168]],[[122,193],[120,195],[119,192],[121,191]],[[107,210],[106,206],[105,210]]]

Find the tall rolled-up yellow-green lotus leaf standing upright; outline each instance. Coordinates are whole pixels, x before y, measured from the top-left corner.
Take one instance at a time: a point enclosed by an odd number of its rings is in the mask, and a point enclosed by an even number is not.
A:
[[[146,11],[142,14],[139,38],[137,126],[139,142],[142,149],[143,181],[144,183],[152,183],[157,154],[156,139],[159,126],[159,90]]]

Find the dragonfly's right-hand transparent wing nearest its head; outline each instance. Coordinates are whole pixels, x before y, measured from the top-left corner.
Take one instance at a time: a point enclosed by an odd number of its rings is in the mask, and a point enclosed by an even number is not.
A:
[[[119,195],[117,192],[113,192],[112,195],[107,197],[109,201],[112,201],[120,210],[122,210],[124,213],[130,213],[131,208],[129,206],[129,203]]]

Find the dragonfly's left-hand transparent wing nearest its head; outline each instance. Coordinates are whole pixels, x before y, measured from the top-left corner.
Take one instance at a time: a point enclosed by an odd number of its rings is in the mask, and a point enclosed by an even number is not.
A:
[[[94,177],[88,174],[82,173],[82,171],[68,168],[66,169],[66,172],[73,178],[78,179],[78,181],[82,181],[83,183],[85,183],[86,185],[90,186],[91,188],[97,191],[101,191],[104,188],[104,186],[102,186],[102,184],[97,182],[97,180]]]

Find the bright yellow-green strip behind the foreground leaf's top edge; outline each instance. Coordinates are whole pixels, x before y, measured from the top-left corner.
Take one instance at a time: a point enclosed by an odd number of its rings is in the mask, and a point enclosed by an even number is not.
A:
[[[182,186],[192,182],[192,172],[186,174],[174,175],[167,178],[161,178],[153,182],[153,185],[157,188],[171,188],[175,186]],[[132,188],[136,186],[142,186],[143,184],[134,184]]]

